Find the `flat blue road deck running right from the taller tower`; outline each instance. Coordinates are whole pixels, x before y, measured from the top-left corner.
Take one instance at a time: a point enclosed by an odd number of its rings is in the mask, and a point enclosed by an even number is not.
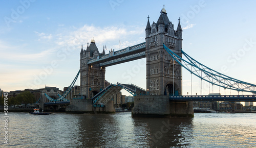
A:
[[[228,101],[256,102],[256,95],[178,95],[170,96],[170,101]]]

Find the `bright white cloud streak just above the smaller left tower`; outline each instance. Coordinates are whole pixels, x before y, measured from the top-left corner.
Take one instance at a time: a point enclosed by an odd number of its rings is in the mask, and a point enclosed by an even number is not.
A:
[[[63,31],[57,34],[56,44],[62,46],[80,46],[81,44],[90,42],[94,38],[98,48],[108,45],[109,49],[119,48],[119,40],[121,47],[132,46],[144,42],[144,27],[126,26],[126,27],[96,27],[94,25],[85,24],[81,28],[74,28],[73,31]],[[134,36],[138,36],[139,40],[134,41]]]

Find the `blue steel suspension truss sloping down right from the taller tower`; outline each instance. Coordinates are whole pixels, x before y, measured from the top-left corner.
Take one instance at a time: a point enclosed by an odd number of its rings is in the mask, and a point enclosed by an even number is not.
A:
[[[178,55],[176,55],[173,51],[167,48],[164,44],[163,47],[169,53],[173,59],[178,62],[182,67],[188,70],[193,75],[197,76],[201,80],[209,82],[212,85],[220,86],[224,89],[236,90],[238,92],[251,92],[253,94],[256,93],[256,85],[250,84],[247,82],[243,82],[226,75],[223,75],[220,72],[217,72],[201,63],[196,61],[195,59],[188,56],[185,52],[182,51],[182,54],[188,59],[188,61],[182,59]]]

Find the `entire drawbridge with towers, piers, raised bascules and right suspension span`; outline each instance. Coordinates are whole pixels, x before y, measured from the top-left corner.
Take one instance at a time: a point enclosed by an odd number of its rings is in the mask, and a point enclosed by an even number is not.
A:
[[[134,95],[133,117],[193,117],[192,101],[255,101],[256,85],[233,79],[191,58],[182,50],[180,18],[175,30],[162,8],[157,22],[147,17],[145,42],[99,52],[95,40],[80,52],[80,97],[70,100],[66,112],[115,112],[113,98],[124,89]],[[187,60],[182,58],[184,56]],[[105,83],[105,67],[146,58],[146,90],[133,84]],[[252,95],[182,95],[182,67],[201,81]],[[78,77],[78,75],[77,75]],[[76,78],[77,78],[76,77]],[[65,92],[66,94],[66,92]],[[64,96],[59,100],[65,101]]]

